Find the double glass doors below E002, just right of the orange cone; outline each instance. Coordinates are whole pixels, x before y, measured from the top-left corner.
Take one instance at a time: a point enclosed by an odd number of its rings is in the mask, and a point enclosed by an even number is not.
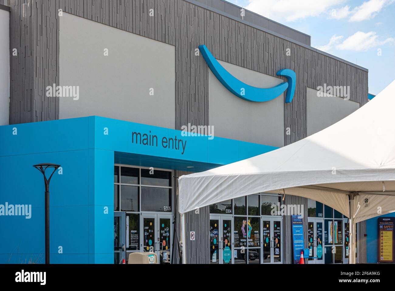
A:
[[[323,227],[324,219],[308,219],[308,254],[304,255],[304,257],[308,257],[310,261],[318,264],[324,264]]]

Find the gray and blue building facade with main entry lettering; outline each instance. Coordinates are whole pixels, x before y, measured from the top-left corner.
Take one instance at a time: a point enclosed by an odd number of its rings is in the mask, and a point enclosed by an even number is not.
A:
[[[1,242],[2,263],[43,259],[43,189],[33,164],[62,166],[51,182],[53,262],[122,263],[151,250],[178,263],[177,177],[286,146],[368,102],[367,69],[223,0],[6,2],[9,125],[0,127],[0,159],[10,166],[0,170],[1,198],[31,205],[32,216],[3,217],[12,240]],[[276,73],[292,70],[292,102],[285,91],[267,102],[238,98],[199,45],[250,86],[289,82]],[[194,126],[211,134],[183,130]],[[188,263],[292,263],[290,216],[273,215],[273,204],[299,206],[311,257],[322,248],[315,263],[347,261],[342,214],[256,193],[185,214],[187,233],[195,233],[184,242]],[[360,223],[361,263],[365,229]]]

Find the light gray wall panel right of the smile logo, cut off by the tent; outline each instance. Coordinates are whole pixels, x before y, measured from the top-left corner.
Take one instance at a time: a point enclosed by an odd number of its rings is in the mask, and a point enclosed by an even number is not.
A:
[[[358,108],[358,102],[307,88],[307,135],[337,123]]]

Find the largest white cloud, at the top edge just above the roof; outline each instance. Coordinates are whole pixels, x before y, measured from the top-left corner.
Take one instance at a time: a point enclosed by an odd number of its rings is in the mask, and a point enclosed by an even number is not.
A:
[[[318,16],[344,0],[249,0],[246,9],[283,23]]]

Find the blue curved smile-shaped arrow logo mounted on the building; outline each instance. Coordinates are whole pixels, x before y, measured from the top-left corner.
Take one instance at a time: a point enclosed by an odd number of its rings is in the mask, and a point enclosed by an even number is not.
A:
[[[265,102],[275,99],[287,90],[285,102],[290,103],[292,101],[296,83],[296,74],[293,70],[283,69],[277,72],[277,76],[284,76],[287,78],[286,83],[281,83],[271,88],[257,88],[243,83],[236,77],[233,77],[213,57],[205,45],[199,45],[199,50],[218,81],[220,81],[226,89],[237,97],[252,102]]]

